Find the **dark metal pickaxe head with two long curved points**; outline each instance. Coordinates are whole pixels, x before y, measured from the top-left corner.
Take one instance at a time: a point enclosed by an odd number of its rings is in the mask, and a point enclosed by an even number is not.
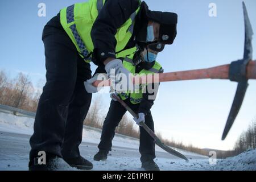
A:
[[[234,61],[230,64],[229,79],[231,81],[237,81],[238,86],[232,107],[230,109],[228,120],[226,121],[226,126],[222,134],[222,140],[224,140],[226,138],[226,135],[228,135],[229,130],[237,117],[238,111],[240,110],[240,107],[243,102],[243,98],[245,97],[247,86],[249,85],[248,80],[246,78],[246,65],[253,58],[253,47],[251,45],[251,40],[253,39],[253,28],[251,28],[250,19],[247,14],[244,2],[243,16],[245,20],[245,47],[243,52],[243,59]]]

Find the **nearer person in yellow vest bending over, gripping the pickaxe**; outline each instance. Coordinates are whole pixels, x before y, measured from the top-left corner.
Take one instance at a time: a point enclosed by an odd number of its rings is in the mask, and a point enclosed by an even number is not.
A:
[[[49,20],[42,37],[46,85],[30,138],[29,169],[92,169],[93,164],[79,152],[83,121],[92,93],[97,92],[88,62],[105,67],[108,76],[110,69],[129,75],[115,55],[154,42],[172,44],[176,24],[175,13],[151,11],[140,0],[75,3]],[[42,151],[46,164],[40,162]]]

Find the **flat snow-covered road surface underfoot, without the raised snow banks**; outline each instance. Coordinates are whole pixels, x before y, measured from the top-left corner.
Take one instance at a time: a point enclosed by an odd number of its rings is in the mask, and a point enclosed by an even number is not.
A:
[[[27,170],[30,135],[0,131],[0,170]],[[93,155],[98,148],[96,143],[82,142],[81,155],[93,162],[93,170],[142,170],[139,152],[135,148],[113,146],[105,162],[96,162]],[[208,168],[208,160],[200,156],[188,156],[187,163],[166,152],[156,152],[156,163],[162,170],[199,170]]]

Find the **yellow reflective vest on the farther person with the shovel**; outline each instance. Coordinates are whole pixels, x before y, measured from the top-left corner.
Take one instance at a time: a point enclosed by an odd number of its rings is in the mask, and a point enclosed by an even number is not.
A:
[[[128,71],[133,73],[133,75],[135,75],[136,67],[133,65],[133,60],[132,59],[130,59],[129,57],[126,57],[123,60],[123,66]],[[162,70],[163,70],[162,66],[157,61],[155,61],[155,64],[154,64],[154,66],[151,69],[148,69],[148,70],[142,69],[142,71],[139,72],[138,75],[147,75],[149,73],[151,73],[151,74],[159,73]],[[143,88],[143,86],[142,86],[142,88]],[[119,97],[121,97],[122,100],[126,100],[127,98],[129,98],[129,95],[130,95],[130,102],[131,102],[131,104],[139,104],[142,101],[142,94],[143,94],[142,93],[142,89],[140,89],[139,93],[129,93],[129,92],[127,92],[127,93],[120,93]]]

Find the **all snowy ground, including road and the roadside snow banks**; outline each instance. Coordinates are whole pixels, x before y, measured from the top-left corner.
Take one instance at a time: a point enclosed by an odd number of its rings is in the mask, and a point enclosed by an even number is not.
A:
[[[0,170],[27,170],[29,139],[32,134],[34,119],[16,117],[12,114],[0,113]],[[96,162],[93,155],[98,151],[101,130],[85,127],[83,131],[80,153],[90,160],[97,171],[140,171],[141,162],[138,151],[139,140],[123,135],[116,135],[108,160]],[[197,171],[197,170],[256,170],[256,150],[243,152],[233,158],[217,160],[209,164],[209,158],[175,148],[189,159],[176,158],[156,146],[156,159],[161,170],[166,171]]]

